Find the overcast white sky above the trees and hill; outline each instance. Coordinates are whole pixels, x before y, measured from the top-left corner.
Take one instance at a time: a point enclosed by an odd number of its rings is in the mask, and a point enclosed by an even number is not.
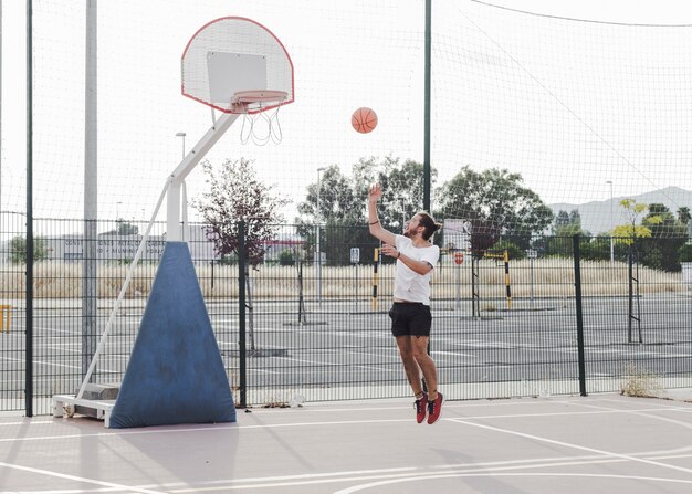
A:
[[[42,217],[78,218],[82,211],[84,17],[80,3],[34,1],[34,207]],[[295,66],[296,102],[280,112],[282,144],[242,146],[239,128],[234,126],[209,154],[209,159],[214,164],[239,156],[256,160],[259,176],[293,201],[285,214],[287,220],[293,219],[295,204],[304,199],[306,187],[316,181],[319,167],[336,165],[348,174],[350,165],[364,156],[390,155],[422,160],[422,97],[411,97],[421,95],[423,87],[422,0],[355,0],[344,8],[308,0],[101,0],[98,3],[99,218],[148,218],[167,175],[180,160],[184,140],[176,134],[186,133],[185,146],[189,150],[210,127],[210,111],[180,95],[179,64],[192,33],[222,15],[255,19],[284,42]],[[686,7],[681,1],[497,0],[489,3],[601,22],[692,24],[692,6]],[[667,149],[671,147],[669,140],[678,139],[673,134],[685,133],[686,127],[679,125],[669,129],[665,122],[654,123],[652,132],[647,127],[648,135],[653,136],[651,143],[633,127],[623,132],[626,135],[614,133],[615,127],[598,120],[602,107],[594,109],[586,104],[590,102],[580,101],[578,94],[559,92],[570,84],[581,84],[580,74],[572,74],[572,81],[551,80],[552,75],[543,72],[539,59],[524,60],[520,52],[507,49],[517,40],[532,46],[533,23],[539,19],[517,18],[515,13],[485,8],[480,2],[460,0],[450,4],[454,4],[450,14],[438,12],[433,24],[433,29],[454,33],[450,34],[449,45],[445,39],[438,40],[434,54],[436,67],[449,70],[451,74],[436,80],[438,88],[433,90],[438,91],[433,108],[433,167],[440,168],[440,180],[449,179],[455,170],[444,168],[445,162],[460,160],[479,167],[512,164],[547,202],[607,199],[610,192],[607,180],[615,181],[616,196],[670,185],[692,189],[690,182],[664,176],[662,166],[650,170],[647,164],[638,161],[646,156],[646,161],[653,165],[674,164],[670,166],[673,172],[684,170],[689,149],[680,145],[679,155],[672,157]],[[433,9],[438,6],[440,3],[433,2]],[[23,2],[2,1],[0,209],[11,211],[23,210],[25,195],[23,13]],[[364,19],[367,22],[363,22]],[[500,20],[495,22],[495,19]],[[503,19],[522,22],[516,23],[515,32],[505,33]],[[555,21],[551,25],[546,35],[558,36],[563,24]],[[617,31],[614,29],[610,31]],[[598,27],[577,23],[575,35],[586,36],[589,30],[598,35],[602,32]],[[454,38],[457,31],[462,38]],[[604,34],[599,42],[607,44],[608,35]],[[652,36],[653,42],[668,38]],[[612,41],[617,41],[615,35]],[[537,50],[548,49],[541,40],[535,43]],[[577,62],[587,60],[596,66],[602,64],[607,72],[611,61],[598,59],[602,50],[596,43],[594,46],[585,44],[587,55],[578,56]],[[459,46],[465,51],[458,50]],[[564,50],[574,49],[564,46]],[[554,52],[545,53],[562,56],[564,62],[564,54],[558,51],[556,46]],[[671,65],[675,63],[675,55],[671,54]],[[474,56],[482,63],[474,65]],[[493,73],[493,57],[510,75]],[[575,66],[578,67],[578,63]],[[454,72],[457,70],[459,72]],[[482,81],[479,84],[484,87],[497,84],[497,88],[490,93],[479,91],[476,96],[474,83],[470,81],[464,93],[457,94],[457,74],[465,75],[473,70],[478,70],[474,75]],[[622,74],[622,78],[630,76],[630,73]],[[682,83],[688,76],[686,72],[679,75]],[[612,77],[615,82],[620,81],[618,74]],[[517,81],[516,87],[513,81]],[[536,87],[538,92],[532,95]],[[670,87],[662,90],[663,95],[685,91],[684,84]],[[448,113],[441,104],[447,97],[443,91],[449,94],[448,107],[454,108]],[[598,91],[609,95],[607,87]],[[636,85],[628,91],[635,99],[640,96]],[[494,99],[486,99],[486,94]],[[514,98],[511,111],[507,111],[505,97]],[[670,115],[673,103],[652,101],[647,104],[651,104],[651,112],[656,112],[656,106],[665,109],[661,115],[667,120],[684,122],[685,115]],[[370,135],[358,135],[349,126],[350,113],[359,106],[370,106],[378,112],[379,125]],[[606,108],[614,113],[607,114],[608,119],[618,122],[618,128],[628,129],[631,122],[649,115],[642,106],[631,105],[630,113],[614,105]],[[526,120],[524,114],[535,107],[544,108],[544,115],[554,116],[545,122]],[[543,150],[545,139],[552,137],[567,138],[569,144],[556,148],[557,151]],[[640,149],[638,143],[646,143],[646,146]],[[585,165],[581,171],[575,172],[574,179],[563,177],[575,156],[594,160],[596,165]],[[551,168],[553,162],[563,161],[559,168]],[[535,164],[533,168],[532,164]],[[689,166],[689,161],[686,164]],[[189,177],[190,196],[199,196],[205,187],[203,176],[196,170]]]

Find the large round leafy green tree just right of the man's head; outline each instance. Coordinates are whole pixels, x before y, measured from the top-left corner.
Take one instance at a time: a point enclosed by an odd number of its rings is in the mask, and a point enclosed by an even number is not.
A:
[[[460,218],[472,223],[474,235],[512,238],[528,248],[528,239],[542,233],[553,221],[553,212],[538,195],[522,185],[520,174],[491,168],[478,172],[465,166],[438,191],[438,218]],[[493,242],[494,243],[494,242]]]

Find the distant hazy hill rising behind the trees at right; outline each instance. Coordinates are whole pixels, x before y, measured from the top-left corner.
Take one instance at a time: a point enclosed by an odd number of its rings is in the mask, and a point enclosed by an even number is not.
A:
[[[654,202],[665,204],[673,214],[678,212],[678,208],[686,206],[692,210],[692,191],[684,190],[679,187],[667,187],[665,189],[654,190],[652,192],[642,193],[640,196],[623,196],[612,198],[612,222],[615,224],[622,224],[626,222],[626,217],[622,216],[622,207],[620,201],[622,199],[633,199],[637,202],[643,202],[651,204]],[[581,228],[596,235],[609,231],[612,225],[610,221],[610,200],[585,202],[584,204],[568,204],[559,202],[556,204],[548,204],[555,214],[560,210],[572,211],[576,209],[581,216]]]

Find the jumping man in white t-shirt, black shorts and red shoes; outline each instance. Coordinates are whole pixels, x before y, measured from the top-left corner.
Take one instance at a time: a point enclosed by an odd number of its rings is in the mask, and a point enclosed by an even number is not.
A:
[[[397,260],[394,304],[389,311],[391,334],[397,339],[413,395],[416,420],[434,423],[442,411],[442,393],[438,392],[438,369],[428,355],[428,339],[432,315],[430,314],[430,275],[440,259],[440,249],[430,242],[440,229],[427,212],[419,212],[397,235],[385,230],[377,217],[377,202],[382,197],[379,183],[370,188],[368,214],[370,234],[382,242],[382,253]],[[428,395],[422,390],[420,375],[426,378]]]

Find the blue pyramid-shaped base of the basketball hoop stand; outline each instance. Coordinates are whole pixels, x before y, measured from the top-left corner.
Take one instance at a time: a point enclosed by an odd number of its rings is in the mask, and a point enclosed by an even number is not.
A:
[[[112,428],[234,422],[190,250],[168,242],[111,413]]]

